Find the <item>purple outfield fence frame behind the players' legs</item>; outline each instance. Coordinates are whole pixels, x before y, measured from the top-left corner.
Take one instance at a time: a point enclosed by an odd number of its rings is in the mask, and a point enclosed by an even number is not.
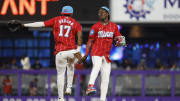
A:
[[[77,81],[80,81],[81,75],[90,74],[90,70],[76,70],[75,74],[77,75]],[[22,96],[21,94],[21,80],[22,74],[38,74],[38,75],[47,75],[48,76],[48,85],[50,85],[50,78],[52,75],[56,74],[56,70],[0,70],[0,75],[5,74],[15,74],[18,76],[18,96],[2,96],[0,95],[0,101],[56,101],[57,97],[51,96],[50,86],[48,86],[47,96],[39,96],[39,97],[30,97],[30,96]],[[141,95],[134,97],[126,97],[126,96],[116,96],[115,95],[115,87],[116,87],[116,76],[122,74],[138,74],[142,76],[142,84],[141,84]],[[160,74],[168,74],[171,75],[171,95],[170,96],[146,96],[145,89],[145,81],[146,75],[160,75]],[[180,101],[180,96],[175,96],[175,75],[180,74],[179,71],[122,71],[122,70],[112,70],[112,96],[107,97],[107,101]],[[75,96],[68,97],[66,96],[66,101],[99,101],[98,96],[81,96],[80,94],[80,82],[76,82],[76,91]]]

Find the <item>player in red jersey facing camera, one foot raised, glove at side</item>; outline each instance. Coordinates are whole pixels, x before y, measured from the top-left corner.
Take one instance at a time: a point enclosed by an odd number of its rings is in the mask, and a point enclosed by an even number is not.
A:
[[[100,21],[94,24],[90,30],[86,54],[82,61],[86,60],[91,48],[93,68],[86,94],[92,95],[96,93],[94,83],[99,71],[101,71],[100,101],[105,101],[111,71],[109,55],[112,42],[116,41],[116,46],[125,45],[125,37],[120,34],[118,26],[109,21],[109,9],[107,7],[101,7],[98,16]]]

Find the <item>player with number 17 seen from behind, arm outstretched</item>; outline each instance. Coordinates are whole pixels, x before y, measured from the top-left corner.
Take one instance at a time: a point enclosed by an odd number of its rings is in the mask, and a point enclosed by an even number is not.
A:
[[[74,59],[81,58],[80,50],[82,44],[82,26],[71,16],[73,8],[64,6],[61,16],[54,17],[43,22],[23,24],[24,27],[52,27],[55,40],[58,101],[64,101],[64,75],[67,67],[67,88],[65,93],[71,94],[74,76]],[[78,37],[78,46],[75,35]]]

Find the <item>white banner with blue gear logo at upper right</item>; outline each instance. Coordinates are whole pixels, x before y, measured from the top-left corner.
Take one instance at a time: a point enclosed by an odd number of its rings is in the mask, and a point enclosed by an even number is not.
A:
[[[180,23],[180,0],[111,0],[110,8],[118,23]]]

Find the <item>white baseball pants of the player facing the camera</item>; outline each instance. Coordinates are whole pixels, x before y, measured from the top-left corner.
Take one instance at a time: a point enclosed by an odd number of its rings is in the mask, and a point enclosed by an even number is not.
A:
[[[95,83],[99,71],[101,71],[100,100],[105,101],[109,85],[111,63],[108,63],[104,56],[92,56],[92,63],[93,68],[91,71],[89,84]]]

